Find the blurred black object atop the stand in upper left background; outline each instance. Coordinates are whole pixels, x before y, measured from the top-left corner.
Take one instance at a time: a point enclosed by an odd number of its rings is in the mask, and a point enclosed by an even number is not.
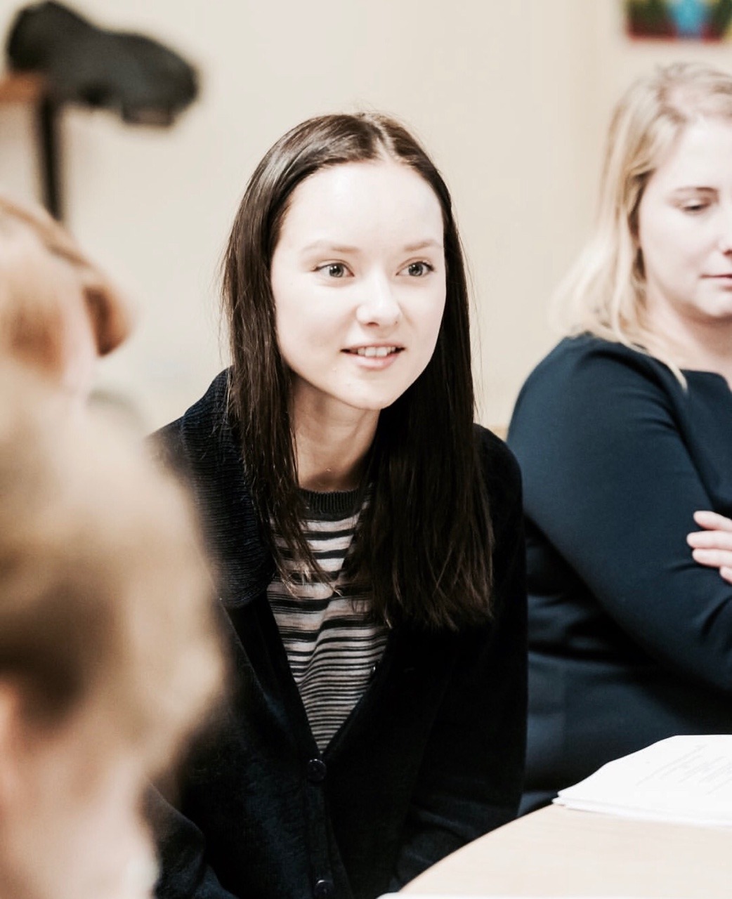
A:
[[[131,124],[171,125],[194,99],[195,69],[141,34],[106,31],[59,3],[24,7],[11,24],[7,58],[40,72],[50,99],[118,112]]]

